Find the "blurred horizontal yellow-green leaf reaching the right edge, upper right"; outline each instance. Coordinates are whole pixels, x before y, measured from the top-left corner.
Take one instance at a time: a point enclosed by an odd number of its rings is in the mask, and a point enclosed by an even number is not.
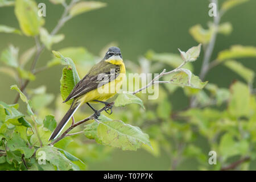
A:
[[[226,59],[238,59],[242,57],[256,57],[256,47],[253,46],[232,46],[218,53],[217,60],[223,61]]]

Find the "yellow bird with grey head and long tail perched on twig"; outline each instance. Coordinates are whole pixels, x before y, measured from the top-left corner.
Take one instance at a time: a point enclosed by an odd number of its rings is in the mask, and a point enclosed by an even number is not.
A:
[[[110,47],[104,58],[99,63],[93,65],[89,72],[77,82],[65,99],[64,103],[72,99],[73,102],[59,125],[52,132],[49,140],[57,138],[65,125],[67,125],[69,119],[83,104],[87,104],[94,111],[94,118],[96,119],[100,116],[100,112],[90,104],[105,104],[106,113],[109,113],[108,111],[111,110],[109,114],[112,114],[113,105],[106,101],[113,97],[121,88],[125,72],[126,69],[121,50],[118,47]]]

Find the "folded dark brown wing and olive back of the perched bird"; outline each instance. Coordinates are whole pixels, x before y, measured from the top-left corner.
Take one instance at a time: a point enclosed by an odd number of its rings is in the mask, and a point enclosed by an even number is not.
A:
[[[98,86],[108,84],[108,82],[113,81],[119,73],[119,65],[110,64],[104,60],[100,61],[100,63],[94,65],[88,74],[76,84],[64,102],[97,89]]]

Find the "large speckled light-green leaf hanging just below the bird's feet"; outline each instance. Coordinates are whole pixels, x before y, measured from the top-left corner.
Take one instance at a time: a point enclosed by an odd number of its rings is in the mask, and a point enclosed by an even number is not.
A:
[[[122,150],[137,150],[143,143],[151,147],[147,134],[144,134],[139,127],[122,121],[101,122],[97,127],[97,136],[102,144]]]

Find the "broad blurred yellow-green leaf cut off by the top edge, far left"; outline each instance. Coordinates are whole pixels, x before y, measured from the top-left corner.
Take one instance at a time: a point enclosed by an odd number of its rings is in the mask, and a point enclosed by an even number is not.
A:
[[[15,15],[20,29],[25,35],[36,36],[39,34],[39,28],[44,21],[38,15],[38,6],[34,0],[16,0]]]

